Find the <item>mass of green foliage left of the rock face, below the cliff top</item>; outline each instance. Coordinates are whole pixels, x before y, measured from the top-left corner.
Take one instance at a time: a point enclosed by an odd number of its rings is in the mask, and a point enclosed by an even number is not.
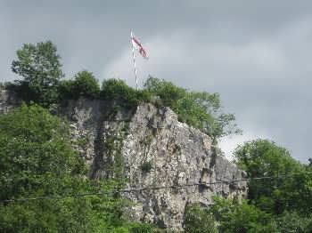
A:
[[[86,165],[71,149],[68,139],[68,126],[37,105],[22,105],[0,116],[0,200],[66,197],[119,187],[116,181],[86,179]],[[116,195],[1,202],[0,231],[147,232],[146,229],[152,229],[150,225],[128,222],[123,215],[126,205],[127,201]]]

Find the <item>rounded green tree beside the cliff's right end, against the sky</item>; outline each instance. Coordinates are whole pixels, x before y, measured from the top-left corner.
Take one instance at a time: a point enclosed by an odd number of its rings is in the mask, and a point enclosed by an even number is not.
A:
[[[292,158],[287,149],[273,141],[249,141],[235,149],[234,157],[250,178],[275,177],[249,182],[249,199],[262,210],[298,211],[304,215],[311,212],[312,173],[308,165]]]

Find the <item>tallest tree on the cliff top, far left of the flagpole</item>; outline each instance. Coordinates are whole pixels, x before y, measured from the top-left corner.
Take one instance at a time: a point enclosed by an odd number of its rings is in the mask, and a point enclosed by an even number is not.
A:
[[[57,86],[64,75],[61,57],[51,41],[24,44],[12,61],[12,71],[24,77],[16,81],[24,99],[44,106],[58,100]]]

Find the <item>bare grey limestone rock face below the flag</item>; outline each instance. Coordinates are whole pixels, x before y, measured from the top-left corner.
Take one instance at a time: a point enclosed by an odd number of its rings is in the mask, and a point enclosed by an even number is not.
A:
[[[126,194],[135,204],[129,210],[134,221],[182,229],[186,205],[208,206],[215,195],[246,195],[245,181],[220,182],[244,173],[220,155],[208,135],[178,122],[170,108],[119,104],[68,100],[59,113],[70,119],[73,147],[91,166],[91,178],[119,177],[126,189],[152,188]],[[12,106],[0,100],[0,113]]]

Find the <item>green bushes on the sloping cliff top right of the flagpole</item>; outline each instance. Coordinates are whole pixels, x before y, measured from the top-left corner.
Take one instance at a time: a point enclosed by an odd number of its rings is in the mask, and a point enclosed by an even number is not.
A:
[[[172,108],[180,121],[201,129],[214,139],[231,133],[241,133],[234,124],[234,115],[222,112],[218,93],[188,92],[152,76],[147,79],[144,87],[160,98],[159,105]]]

